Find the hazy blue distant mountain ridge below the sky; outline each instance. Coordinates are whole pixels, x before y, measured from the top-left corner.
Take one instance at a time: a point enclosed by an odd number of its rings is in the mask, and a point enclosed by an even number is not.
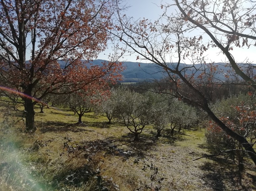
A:
[[[102,62],[107,62],[105,60],[94,60],[90,62],[92,65],[102,65]],[[63,61],[59,61],[60,65],[63,65]],[[126,70],[122,72],[123,81],[122,82],[141,82],[141,81],[151,81],[151,80],[159,80],[161,78],[165,78],[165,72],[162,68],[160,68],[155,63],[139,63],[139,62],[123,62],[123,65],[126,66]],[[218,65],[218,69],[222,70],[222,73],[216,74],[216,80],[225,80],[225,73],[228,73],[228,70],[231,70],[230,67],[225,67],[224,63],[214,63],[214,65]],[[242,67],[243,64],[241,64]],[[253,64],[256,66],[256,64]],[[174,68],[177,66],[177,63],[169,64],[170,68]],[[190,65],[186,65],[184,63],[180,64],[179,68],[188,67]],[[195,64],[193,68],[188,68],[185,73],[187,75],[195,74],[197,77],[202,71],[196,71],[197,69],[203,69],[201,64]],[[242,67],[242,69],[245,69]],[[210,70],[206,67],[206,70]],[[210,72],[210,71],[206,71]],[[256,69],[254,69],[254,74],[256,74]]]

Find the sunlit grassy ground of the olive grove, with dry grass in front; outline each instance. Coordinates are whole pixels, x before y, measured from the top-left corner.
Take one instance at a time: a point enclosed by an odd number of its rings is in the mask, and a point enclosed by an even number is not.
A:
[[[36,113],[37,130],[24,132],[22,112],[1,100],[0,190],[255,190],[256,169],[221,157],[193,161],[208,149],[204,129],[159,139],[147,127],[139,142],[126,127],[87,113],[83,125],[62,106]],[[22,108],[22,107],[20,107]],[[36,112],[40,109],[36,107]],[[209,153],[208,153],[209,154]]]

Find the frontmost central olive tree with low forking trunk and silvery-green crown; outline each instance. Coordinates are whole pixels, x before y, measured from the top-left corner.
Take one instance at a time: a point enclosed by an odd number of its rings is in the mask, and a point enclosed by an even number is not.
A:
[[[112,92],[115,97],[115,118],[125,125],[139,141],[139,134],[152,121],[151,102],[147,96],[118,88]]]

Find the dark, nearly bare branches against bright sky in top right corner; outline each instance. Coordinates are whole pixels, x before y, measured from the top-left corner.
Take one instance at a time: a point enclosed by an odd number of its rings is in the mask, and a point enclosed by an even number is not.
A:
[[[191,28],[199,28],[205,32],[211,41],[211,46],[218,47],[228,59],[236,74],[244,79],[248,85],[256,89],[253,72],[246,73],[237,64],[231,51],[235,47],[256,46],[256,4],[249,0],[237,1],[182,1],[175,0],[183,17]],[[168,8],[170,5],[165,6]],[[165,15],[167,15],[167,9]],[[247,63],[249,71],[255,66]],[[253,71],[253,70],[252,70]],[[248,71],[247,71],[248,72]]]

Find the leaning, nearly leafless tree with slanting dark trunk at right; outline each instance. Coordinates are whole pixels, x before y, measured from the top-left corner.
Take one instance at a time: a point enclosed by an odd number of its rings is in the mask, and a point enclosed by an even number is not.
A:
[[[245,7],[240,0],[192,0],[181,3],[175,0],[173,6],[180,12],[175,15],[172,11],[168,12],[172,5],[163,5],[163,16],[156,21],[145,18],[134,20],[120,15],[117,10],[116,30],[109,32],[129,46],[130,51],[137,54],[138,60],[148,60],[162,68],[171,83],[169,94],[204,110],[228,136],[239,142],[256,165],[254,145],[216,116],[209,107],[210,97],[205,91],[206,85],[214,84],[217,88],[225,84],[220,80],[215,82],[215,74],[222,71],[213,62],[205,61],[204,54],[211,47],[218,47],[224,53],[228,60],[227,66],[244,80],[239,84],[250,86],[255,91],[254,66],[248,63],[244,66],[245,70],[242,70],[230,52],[241,46],[240,41],[242,46],[254,48],[256,4],[253,1],[248,3],[250,6]],[[190,36],[189,32],[193,32],[195,28],[205,34]],[[205,35],[210,38],[207,43],[203,41]],[[229,74],[225,75],[228,77]]]

